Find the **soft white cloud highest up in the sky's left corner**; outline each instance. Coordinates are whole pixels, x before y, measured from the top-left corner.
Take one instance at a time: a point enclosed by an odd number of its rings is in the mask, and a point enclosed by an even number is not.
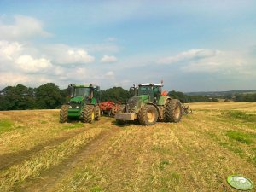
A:
[[[16,15],[13,24],[3,22],[0,17],[0,39],[25,39],[33,37],[49,37],[50,33],[43,30],[41,21],[24,15]]]

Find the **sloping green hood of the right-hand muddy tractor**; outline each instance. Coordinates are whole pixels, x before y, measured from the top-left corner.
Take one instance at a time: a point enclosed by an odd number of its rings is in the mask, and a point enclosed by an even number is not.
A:
[[[148,102],[148,95],[133,96],[127,102],[128,112],[137,113],[142,107],[142,103]]]

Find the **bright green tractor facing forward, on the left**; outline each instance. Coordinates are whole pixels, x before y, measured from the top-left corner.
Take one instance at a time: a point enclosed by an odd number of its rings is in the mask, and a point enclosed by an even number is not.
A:
[[[61,123],[67,122],[68,119],[82,119],[84,123],[92,123],[100,119],[99,86],[69,84],[67,90],[70,99],[67,104],[61,106]]]

